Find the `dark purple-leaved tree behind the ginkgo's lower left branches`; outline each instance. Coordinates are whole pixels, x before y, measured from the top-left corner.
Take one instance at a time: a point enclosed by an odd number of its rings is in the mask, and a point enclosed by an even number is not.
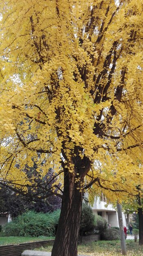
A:
[[[40,156],[40,155],[39,155]],[[45,160],[41,163],[42,166],[45,163]],[[16,167],[19,169],[20,166],[16,164]],[[48,170],[47,175],[43,179],[37,175],[37,163],[33,161],[33,166],[29,167],[28,164],[24,166],[24,173],[31,177],[32,173],[35,173],[35,180],[37,183],[36,191],[33,191],[29,187],[26,194],[17,193],[18,191],[13,191],[9,186],[1,185],[0,186],[0,212],[8,212],[11,216],[15,217],[21,213],[24,213],[27,210],[35,210],[36,212],[47,213],[49,211],[55,211],[61,207],[61,198],[56,197],[51,194],[51,186],[53,185],[53,169]],[[61,184],[58,184],[60,187]]]

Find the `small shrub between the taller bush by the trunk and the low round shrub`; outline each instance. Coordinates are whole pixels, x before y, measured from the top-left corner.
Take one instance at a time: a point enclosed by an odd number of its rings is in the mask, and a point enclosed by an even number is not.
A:
[[[100,215],[95,214],[95,233],[101,233],[107,229],[107,220]]]

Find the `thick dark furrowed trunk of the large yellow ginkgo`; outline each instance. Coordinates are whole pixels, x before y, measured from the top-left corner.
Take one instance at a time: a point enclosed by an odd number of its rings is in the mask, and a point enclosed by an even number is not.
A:
[[[82,195],[77,189],[75,175],[66,173],[61,214],[51,256],[77,256]]]

